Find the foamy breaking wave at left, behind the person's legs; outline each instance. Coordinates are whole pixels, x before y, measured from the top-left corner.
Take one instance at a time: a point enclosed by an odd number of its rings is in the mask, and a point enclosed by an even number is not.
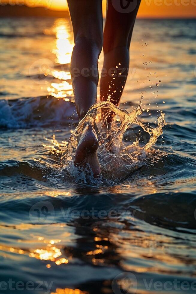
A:
[[[73,102],[52,96],[0,100],[0,127],[30,128],[71,125],[78,122]]]

